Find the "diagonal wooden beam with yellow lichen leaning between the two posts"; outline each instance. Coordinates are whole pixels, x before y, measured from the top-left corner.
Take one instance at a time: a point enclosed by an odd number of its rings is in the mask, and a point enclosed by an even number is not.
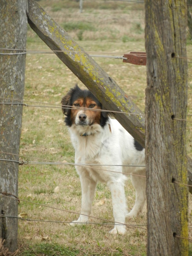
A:
[[[100,100],[106,109],[131,113],[114,113],[124,128],[145,147],[145,118],[140,109],[118,84],[100,68],[84,50],[36,2],[28,1],[28,23],[37,35]],[[136,115],[132,115],[136,114]],[[192,160],[188,157],[188,179],[192,185]],[[192,194],[192,188],[189,189]]]

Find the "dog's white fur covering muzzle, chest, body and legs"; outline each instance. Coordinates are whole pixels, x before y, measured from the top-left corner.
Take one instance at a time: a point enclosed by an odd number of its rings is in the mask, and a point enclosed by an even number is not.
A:
[[[101,127],[100,124],[89,125],[91,120],[87,116],[87,126],[79,125],[79,115],[83,113],[84,110],[79,110],[75,124],[69,127],[71,141],[75,148],[75,163],[90,164],[90,166],[86,165],[86,168],[76,166],[81,181],[82,207],[79,219],[74,221],[72,225],[76,222],[88,222],[88,217],[85,215],[91,214],[96,185],[98,181],[101,181],[107,183],[112,195],[115,226],[110,233],[125,234],[125,226],[118,225],[118,223],[125,223],[126,216],[129,218],[136,217],[142,211],[146,201],[146,180],[143,177],[131,175],[132,184],[136,190],[136,200],[131,212],[127,213],[124,193],[126,175],[122,172],[145,175],[145,168],[122,167],[120,165],[145,165],[145,150],[138,151],[135,148],[133,137],[116,119],[109,118],[107,124]],[[86,133],[87,136],[80,136],[82,133]],[[103,166],[93,166],[91,164],[103,164]],[[114,166],[105,166],[112,164]],[[97,169],[94,169],[94,167]]]

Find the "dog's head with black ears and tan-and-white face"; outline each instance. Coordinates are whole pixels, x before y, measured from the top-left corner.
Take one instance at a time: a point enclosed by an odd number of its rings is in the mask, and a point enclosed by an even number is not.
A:
[[[77,84],[62,98],[61,105],[62,112],[66,116],[65,123],[69,127],[72,124],[79,126],[99,124],[103,127],[108,120],[108,113],[100,111],[103,108],[97,98],[89,90],[81,90]]]

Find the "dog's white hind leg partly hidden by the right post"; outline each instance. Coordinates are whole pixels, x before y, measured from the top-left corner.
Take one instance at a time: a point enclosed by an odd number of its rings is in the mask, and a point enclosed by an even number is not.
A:
[[[145,170],[141,170],[137,174],[145,176]],[[126,215],[129,218],[137,217],[142,212],[146,202],[146,178],[131,175],[131,180],[136,190],[136,199],[132,210]]]

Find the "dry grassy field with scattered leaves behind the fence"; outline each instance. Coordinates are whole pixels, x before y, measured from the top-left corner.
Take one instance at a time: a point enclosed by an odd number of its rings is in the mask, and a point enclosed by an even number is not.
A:
[[[123,56],[130,51],[145,51],[144,4],[120,1],[84,1],[83,12],[73,0],[41,0],[39,4],[68,34],[90,54]],[[28,50],[49,50],[28,27]],[[188,61],[192,61],[192,44],[188,39]],[[123,63],[122,60],[96,58],[119,86],[144,112],[146,67]],[[188,63],[188,114],[192,114],[192,64]],[[54,54],[27,54],[25,100],[43,102],[29,105],[60,104],[62,96],[78,82],[77,77]],[[47,105],[48,106],[48,105]],[[59,107],[59,106],[56,106]],[[190,117],[188,119],[191,121]],[[36,157],[63,163],[74,163],[74,149],[60,108],[23,107],[21,160],[40,161]],[[188,123],[187,150],[192,157],[191,123]],[[130,210],[135,192],[130,179],[125,193]],[[19,198],[38,204],[80,212],[81,187],[71,165],[28,164],[19,169]],[[191,195],[189,196],[189,226],[192,226]],[[19,213],[33,220],[76,220],[78,215],[44,206],[20,202]],[[170,213],[171,214],[171,213]],[[22,216],[24,216],[22,215]],[[92,206],[92,216],[113,220],[111,195],[105,184],[99,183]],[[107,223],[90,219],[90,222]],[[131,225],[146,225],[146,210]],[[127,228],[125,236],[113,236],[110,225],[89,224],[71,227],[64,223],[19,220],[21,255],[146,255],[146,231]],[[144,226],[144,228],[146,228]],[[189,238],[192,232],[189,229]],[[191,246],[190,246],[191,248]],[[192,255],[190,249],[190,255]]]

